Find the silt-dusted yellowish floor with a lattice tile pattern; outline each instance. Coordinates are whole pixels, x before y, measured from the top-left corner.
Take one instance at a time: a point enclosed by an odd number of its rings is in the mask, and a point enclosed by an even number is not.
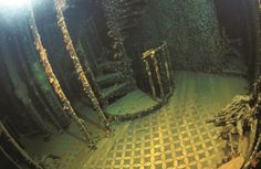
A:
[[[80,134],[70,133],[45,147],[34,142],[36,152],[59,155],[59,169],[216,169],[222,156],[217,128],[205,122],[236,94],[246,93],[247,82],[188,72],[175,78],[167,105],[144,118],[115,124],[115,135],[98,141],[96,150],[90,151]],[[95,124],[87,127],[93,137],[103,135]]]

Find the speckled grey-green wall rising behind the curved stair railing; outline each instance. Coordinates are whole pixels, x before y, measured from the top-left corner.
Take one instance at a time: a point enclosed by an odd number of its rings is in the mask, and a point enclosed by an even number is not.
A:
[[[222,50],[213,0],[149,1],[130,41],[149,46],[165,40],[176,70],[217,71]]]

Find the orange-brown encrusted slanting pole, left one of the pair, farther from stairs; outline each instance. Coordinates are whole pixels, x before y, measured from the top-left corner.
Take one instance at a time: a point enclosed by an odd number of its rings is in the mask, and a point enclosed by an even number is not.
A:
[[[40,60],[41,60],[41,63],[44,67],[44,72],[45,72],[45,74],[49,78],[49,82],[52,85],[52,87],[53,87],[55,94],[58,95],[59,99],[61,101],[64,112],[67,113],[69,116],[77,124],[77,126],[80,127],[82,134],[84,135],[84,138],[90,142],[90,147],[95,148],[96,146],[91,140],[90,134],[88,134],[87,129],[84,126],[84,120],[79,118],[77,115],[75,114],[74,109],[71,106],[71,103],[69,102],[69,99],[65,96],[63,89],[61,88],[61,85],[60,85],[55,74],[53,73],[52,66],[51,66],[51,64],[49,62],[49,59],[48,59],[46,50],[42,44],[41,36],[39,34],[39,31],[38,31],[38,27],[36,27],[35,20],[34,20],[34,14],[33,14],[32,7],[29,7],[29,10],[30,10],[29,22],[30,22],[32,33],[33,33],[33,38],[34,38],[35,49],[40,53]]]

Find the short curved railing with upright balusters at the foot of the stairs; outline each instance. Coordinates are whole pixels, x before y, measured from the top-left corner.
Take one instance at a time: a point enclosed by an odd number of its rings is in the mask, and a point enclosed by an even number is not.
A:
[[[157,99],[157,91],[163,101],[173,93],[174,73],[167,42],[156,49],[147,50],[142,57],[153,98]]]

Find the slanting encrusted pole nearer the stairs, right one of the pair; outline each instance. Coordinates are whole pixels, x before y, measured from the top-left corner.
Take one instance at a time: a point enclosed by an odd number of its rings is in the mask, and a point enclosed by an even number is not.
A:
[[[107,117],[105,116],[103,109],[101,108],[101,105],[100,105],[100,103],[98,103],[98,101],[97,101],[97,98],[96,98],[96,96],[95,96],[95,94],[94,94],[94,92],[93,92],[93,89],[90,85],[90,82],[88,82],[87,77],[84,74],[82,64],[80,63],[80,60],[79,60],[79,56],[76,54],[73,42],[71,40],[66,23],[64,21],[63,11],[60,7],[59,0],[54,0],[54,2],[55,2],[58,24],[59,24],[59,27],[61,29],[61,32],[63,34],[63,41],[66,45],[66,50],[70,53],[70,56],[71,56],[72,61],[73,61],[75,71],[79,75],[79,80],[81,81],[81,83],[83,85],[83,91],[90,97],[90,99],[93,104],[93,107],[97,112],[98,116],[102,118],[102,120],[103,120],[103,123],[104,123],[104,125],[107,129],[107,133],[111,133],[111,127],[109,127],[109,123],[107,120]]]

